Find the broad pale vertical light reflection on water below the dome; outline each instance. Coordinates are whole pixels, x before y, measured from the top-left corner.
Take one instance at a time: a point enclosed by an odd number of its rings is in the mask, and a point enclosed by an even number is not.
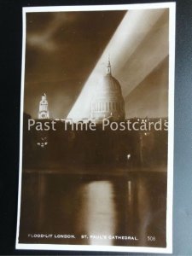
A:
[[[90,244],[112,244],[111,240],[102,240],[99,236],[115,234],[116,216],[113,201],[113,184],[109,181],[90,182],[84,186],[85,233],[90,237]],[[102,227],[102,229],[101,229]],[[95,238],[97,237],[97,238]]]

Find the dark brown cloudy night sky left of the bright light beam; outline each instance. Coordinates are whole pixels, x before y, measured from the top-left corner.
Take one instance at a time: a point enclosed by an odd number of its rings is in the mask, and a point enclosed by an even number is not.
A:
[[[27,13],[25,112],[37,118],[45,92],[50,118],[66,118],[125,13]]]

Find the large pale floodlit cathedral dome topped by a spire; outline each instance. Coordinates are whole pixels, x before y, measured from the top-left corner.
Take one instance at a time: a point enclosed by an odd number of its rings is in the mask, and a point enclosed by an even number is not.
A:
[[[91,102],[90,119],[96,123],[110,118],[113,121],[125,119],[125,102],[122,96],[119,81],[111,74],[111,65],[108,61],[107,74],[97,85],[96,94]]]

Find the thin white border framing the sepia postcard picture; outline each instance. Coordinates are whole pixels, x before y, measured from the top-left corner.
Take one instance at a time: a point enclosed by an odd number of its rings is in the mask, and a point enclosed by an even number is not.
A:
[[[20,231],[20,201],[22,180],[22,143],[23,143],[23,110],[24,84],[26,62],[26,13],[33,12],[69,12],[69,11],[102,11],[128,9],[169,9],[169,98],[168,98],[168,164],[167,164],[167,208],[166,208],[166,247],[122,247],[122,246],[94,246],[94,245],[58,245],[58,244],[27,244],[19,243]],[[119,5],[83,5],[83,6],[49,6],[23,8],[23,37],[22,37],[22,68],[20,92],[20,172],[18,189],[18,210],[16,249],[32,250],[71,250],[71,251],[108,251],[108,252],[137,252],[137,253],[172,253],[172,203],[173,203],[173,144],[174,144],[174,68],[175,68],[175,16],[176,3],[136,3]]]

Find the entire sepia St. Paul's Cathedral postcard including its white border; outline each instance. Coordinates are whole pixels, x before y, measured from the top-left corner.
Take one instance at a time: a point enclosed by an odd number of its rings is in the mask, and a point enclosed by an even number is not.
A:
[[[16,248],[172,252],[175,4],[23,9]]]

